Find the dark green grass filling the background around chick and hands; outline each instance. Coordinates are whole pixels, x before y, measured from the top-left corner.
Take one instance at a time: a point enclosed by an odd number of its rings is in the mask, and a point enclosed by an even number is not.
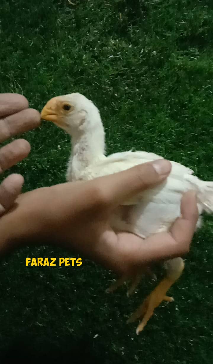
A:
[[[100,109],[108,153],[153,151],[213,180],[213,3],[72,2],[4,1],[0,92],[23,93],[38,110],[53,96],[81,92]],[[24,191],[64,182],[69,137],[43,123],[24,138],[31,154],[11,170],[24,175]],[[1,355],[17,358],[25,350],[31,362],[41,353],[46,362],[212,363],[212,240],[213,219],[205,217],[185,272],[170,289],[175,302],[161,305],[139,336],[126,318],[151,282],[142,281],[130,300],[125,287],[108,296],[114,275],[92,262],[25,267],[27,256],[70,253],[20,249],[0,263]]]

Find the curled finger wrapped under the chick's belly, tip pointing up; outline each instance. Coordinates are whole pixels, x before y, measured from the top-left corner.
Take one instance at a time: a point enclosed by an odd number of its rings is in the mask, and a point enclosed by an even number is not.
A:
[[[108,231],[104,236],[101,252],[103,261],[106,265],[109,264],[110,257],[111,269],[122,273],[141,265],[188,253],[199,216],[194,191],[188,191],[183,195],[181,214],[182,217],[176,219],[169,232],[157,233],[144,240],[126,232],[120,232],[116,237],[112,231]]]

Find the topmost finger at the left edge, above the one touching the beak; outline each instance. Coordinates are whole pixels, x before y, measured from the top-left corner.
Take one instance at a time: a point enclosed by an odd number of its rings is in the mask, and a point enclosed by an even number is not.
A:
[[[0,117],[15,114],[29,106],[27,99],[20,94],[0,94]]]

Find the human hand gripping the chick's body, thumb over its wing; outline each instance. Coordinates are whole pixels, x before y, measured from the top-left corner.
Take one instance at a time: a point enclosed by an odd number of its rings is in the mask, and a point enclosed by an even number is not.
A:
[[[156,163],[158,167],[159,163],[164,165],[163,174],[157,173]],[[158,160],[87,182],[63,183],[21,194],[13,210],[0,219],[0,248],[45,243],[63,246],[129,275],[150,262],[182,256],[189,251],[198,219],[193,191],[183,196],[182,217],[167,233],[142,240],[131,233],[115,233],[109,223],[118,205],[164,181],[170,169],[169,161]]]

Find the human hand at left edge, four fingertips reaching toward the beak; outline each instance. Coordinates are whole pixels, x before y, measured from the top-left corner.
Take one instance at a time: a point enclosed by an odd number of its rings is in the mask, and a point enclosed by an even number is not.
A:
[[[27,99],[19,94],[0,94],[0,142],[31,130],[40,124],[40,114],[28,108]],[[26,158],[30,145],[16,139],[0,149],[0,173]],[[0,215],[5,213],[20,194],[24,178],[11,174],[0,185]]]

